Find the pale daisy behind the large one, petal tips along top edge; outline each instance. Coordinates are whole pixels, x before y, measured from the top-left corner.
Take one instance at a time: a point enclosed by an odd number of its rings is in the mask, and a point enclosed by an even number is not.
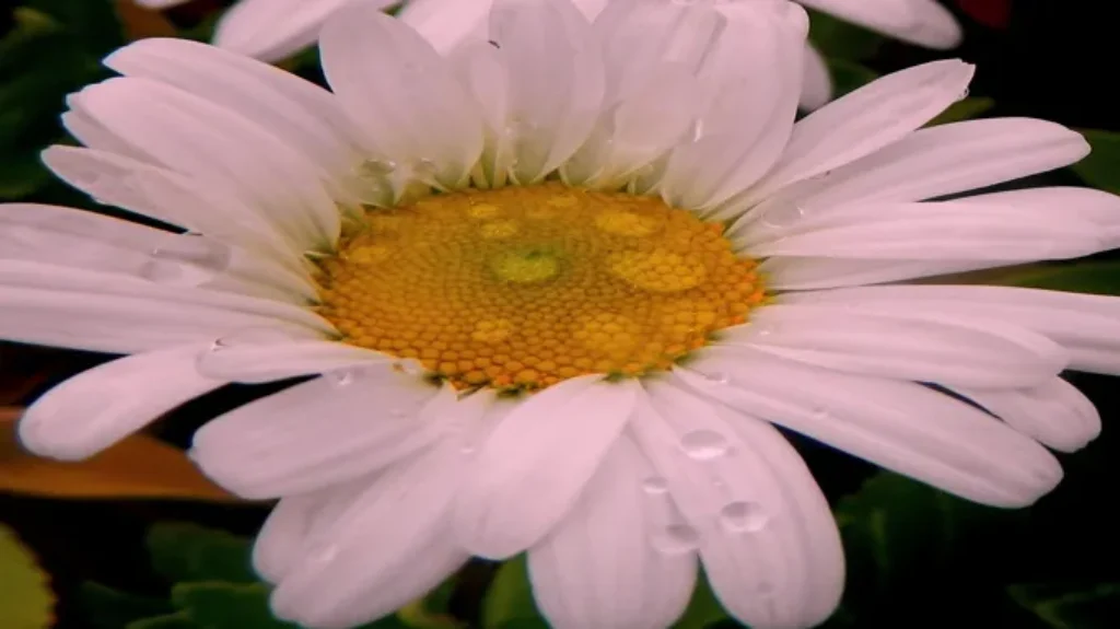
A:
[[[368,2],[380,9],[403,3],[401,0],[240,0],[218,22],[214,44],[267,62],[280,60],[314,43],[330,12],[352,1]],[[575,0],[575,3],[588,19],[594,19],[608,1]],[[682,0],[682,3],[692,1],[707,0]],[[936,0],[796,1],[927,48],[954,48],[961,41],[960,25]],[[184,0],[137,2],[161,9]],[[410,0],[403,3],[399,17],[427,37],[437,50],[446,53],[465,38],[486,34],[486,16],[493,2]],[[805,48],[803,72],[801,106],[815,110],[832,98],[832,78],[824,59],[812,46]]]

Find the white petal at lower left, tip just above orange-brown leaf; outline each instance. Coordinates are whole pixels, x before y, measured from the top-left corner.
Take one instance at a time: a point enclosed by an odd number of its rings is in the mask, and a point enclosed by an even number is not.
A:
[[[39,397],[19,422],[32,452],[64,461],[96,454],[160,415],[225,383],[195,372],[203,347],[180,346],[118,358]]]

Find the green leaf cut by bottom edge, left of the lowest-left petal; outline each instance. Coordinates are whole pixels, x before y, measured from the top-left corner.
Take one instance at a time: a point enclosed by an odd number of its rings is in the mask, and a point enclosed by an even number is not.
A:
[[[171,602],[205,629],[296,629],[269,609],[269,588],[263,583],[179,583]]]

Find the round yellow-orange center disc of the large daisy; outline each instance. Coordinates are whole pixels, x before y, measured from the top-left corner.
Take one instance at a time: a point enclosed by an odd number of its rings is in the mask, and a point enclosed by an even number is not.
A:
[[[764,298],[722,226],[654,197],[560,184],[370,209],[323,262],[353,345],[460,388],[533,391],[668,369]]]

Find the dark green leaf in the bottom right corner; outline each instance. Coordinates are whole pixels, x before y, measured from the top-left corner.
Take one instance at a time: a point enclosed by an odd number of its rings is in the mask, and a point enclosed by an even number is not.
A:
[[[1009,586],[1007,593],[1054,629],[1120,627],[1120,583],[1082,588],[1020,584]]]

